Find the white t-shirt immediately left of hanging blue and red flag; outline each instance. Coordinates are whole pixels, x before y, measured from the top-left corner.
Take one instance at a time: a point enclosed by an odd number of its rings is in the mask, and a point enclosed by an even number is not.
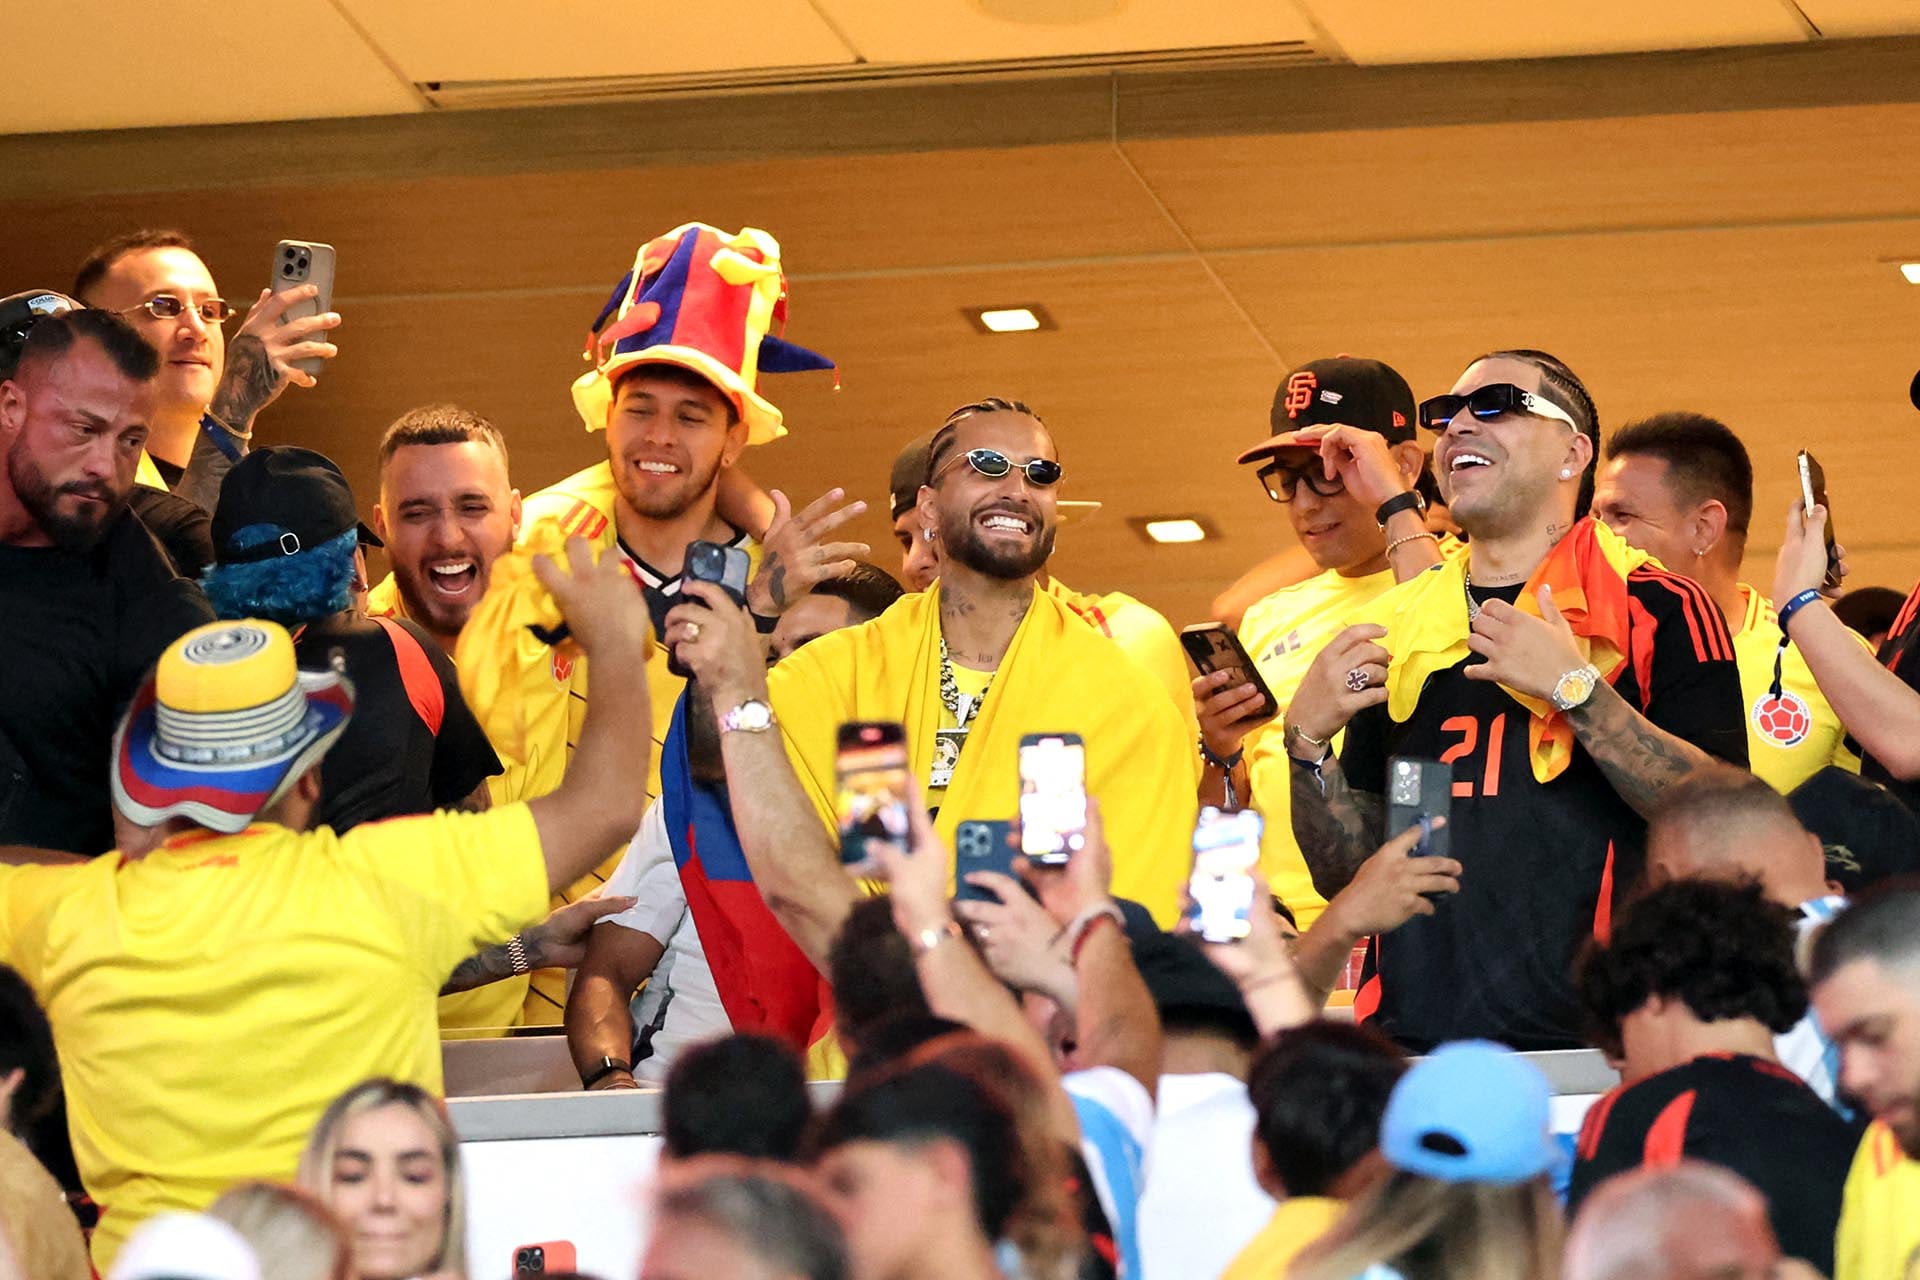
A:
[[[712,969],[707,967],[707,952],[693,927],[693,912],[687,910],[687,892],[680,885],[659,800],[647,806],[605,892],[639,898],[626,912],[609,915],[611,923],[645,933],[666,946],[647,986],[634,998],[636,1032],[664,1015],[651,1036],[653,1052],[634,1063],[636,1080],[660,1084],[682,1050],[732,1032],[733,1023],[720,1004]]]

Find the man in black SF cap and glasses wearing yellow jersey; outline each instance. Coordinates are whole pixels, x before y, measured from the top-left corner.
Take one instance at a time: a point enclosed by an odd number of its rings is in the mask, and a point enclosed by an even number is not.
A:
[[[1308,664],[1354,610],[1440,560],[1415,491],[1427,455],[1415,439],[1413,391],[1380,361],[1308,361],[1273,393],[1273,436],[1240,453],[1260,464],[1267,497],[1321,572],[1281,587],[1240,618],[1240,645],[1284,712]],[[1260,864],[1286,910],[1308,929],[1327,910],[1288,821],[1292,766],[1279,723],[1261,720],[1252,683],[1221,670],[1192,681],[1200,708],[1200,798],[1233,796],[1265,818]]]

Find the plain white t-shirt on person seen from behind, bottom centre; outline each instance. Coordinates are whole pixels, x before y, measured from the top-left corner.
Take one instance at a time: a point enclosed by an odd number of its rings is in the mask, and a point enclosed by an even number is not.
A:
[[[1148,1280],[1217,1276],[1273,1217],[1254,1178],[1254,1119],[1246,1084],[1231,1075],[1160,1077],[1140,1196]]]

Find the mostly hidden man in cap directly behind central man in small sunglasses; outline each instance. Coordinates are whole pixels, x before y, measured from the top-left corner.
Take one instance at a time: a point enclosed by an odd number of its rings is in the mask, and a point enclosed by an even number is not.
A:
[[[975,401],[954,413],[989,409],[1029,413],[1020,401],[996,397]],[[941,572],[939,530],[925,528],[920,518],[920,489],[927,482],[927,447],[931,443],[931,434],[908,443],[895,459],[887,486],[893,491],[893,535],[900,543],[900,576],[912,591],[925,591]],[[1069,514],[1092,514],[1100,503],[1060,501],[1054,509],[1060,512],[1060,522],[1066,524]],[[1075,591],[1054,578],[1050,566],[1041,570],[1039,583],[1041,591],[1071,608],[1081,622],[1119,645],[1121,652],[1158,679],[1167,697],[1173,699],[1173,706],[1187,718],[1188,729],[1200,729],[1188,687],[1187,652],[1181,649],[1181,637],[1160,616],[1160,610],[1142,604],[1125,591],[1108,591],[1106,595]]]

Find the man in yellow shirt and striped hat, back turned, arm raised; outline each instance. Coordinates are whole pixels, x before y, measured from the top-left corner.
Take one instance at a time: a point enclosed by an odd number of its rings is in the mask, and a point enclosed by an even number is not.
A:
[[[438,1094],[447,973],[639,821],[647,612],[612,557],[576,541],[566,564],[536,566],[551,620],[607,670],[555,793],[309,829],[353,687],[296,670],[278,624],[215,622],[165,649],[113,735],[113,806],[159,844],[0,865],[0,963],[54,1027],[100,1274],[156,1213],[292,1180],[315,1121],[359,1080]]]

